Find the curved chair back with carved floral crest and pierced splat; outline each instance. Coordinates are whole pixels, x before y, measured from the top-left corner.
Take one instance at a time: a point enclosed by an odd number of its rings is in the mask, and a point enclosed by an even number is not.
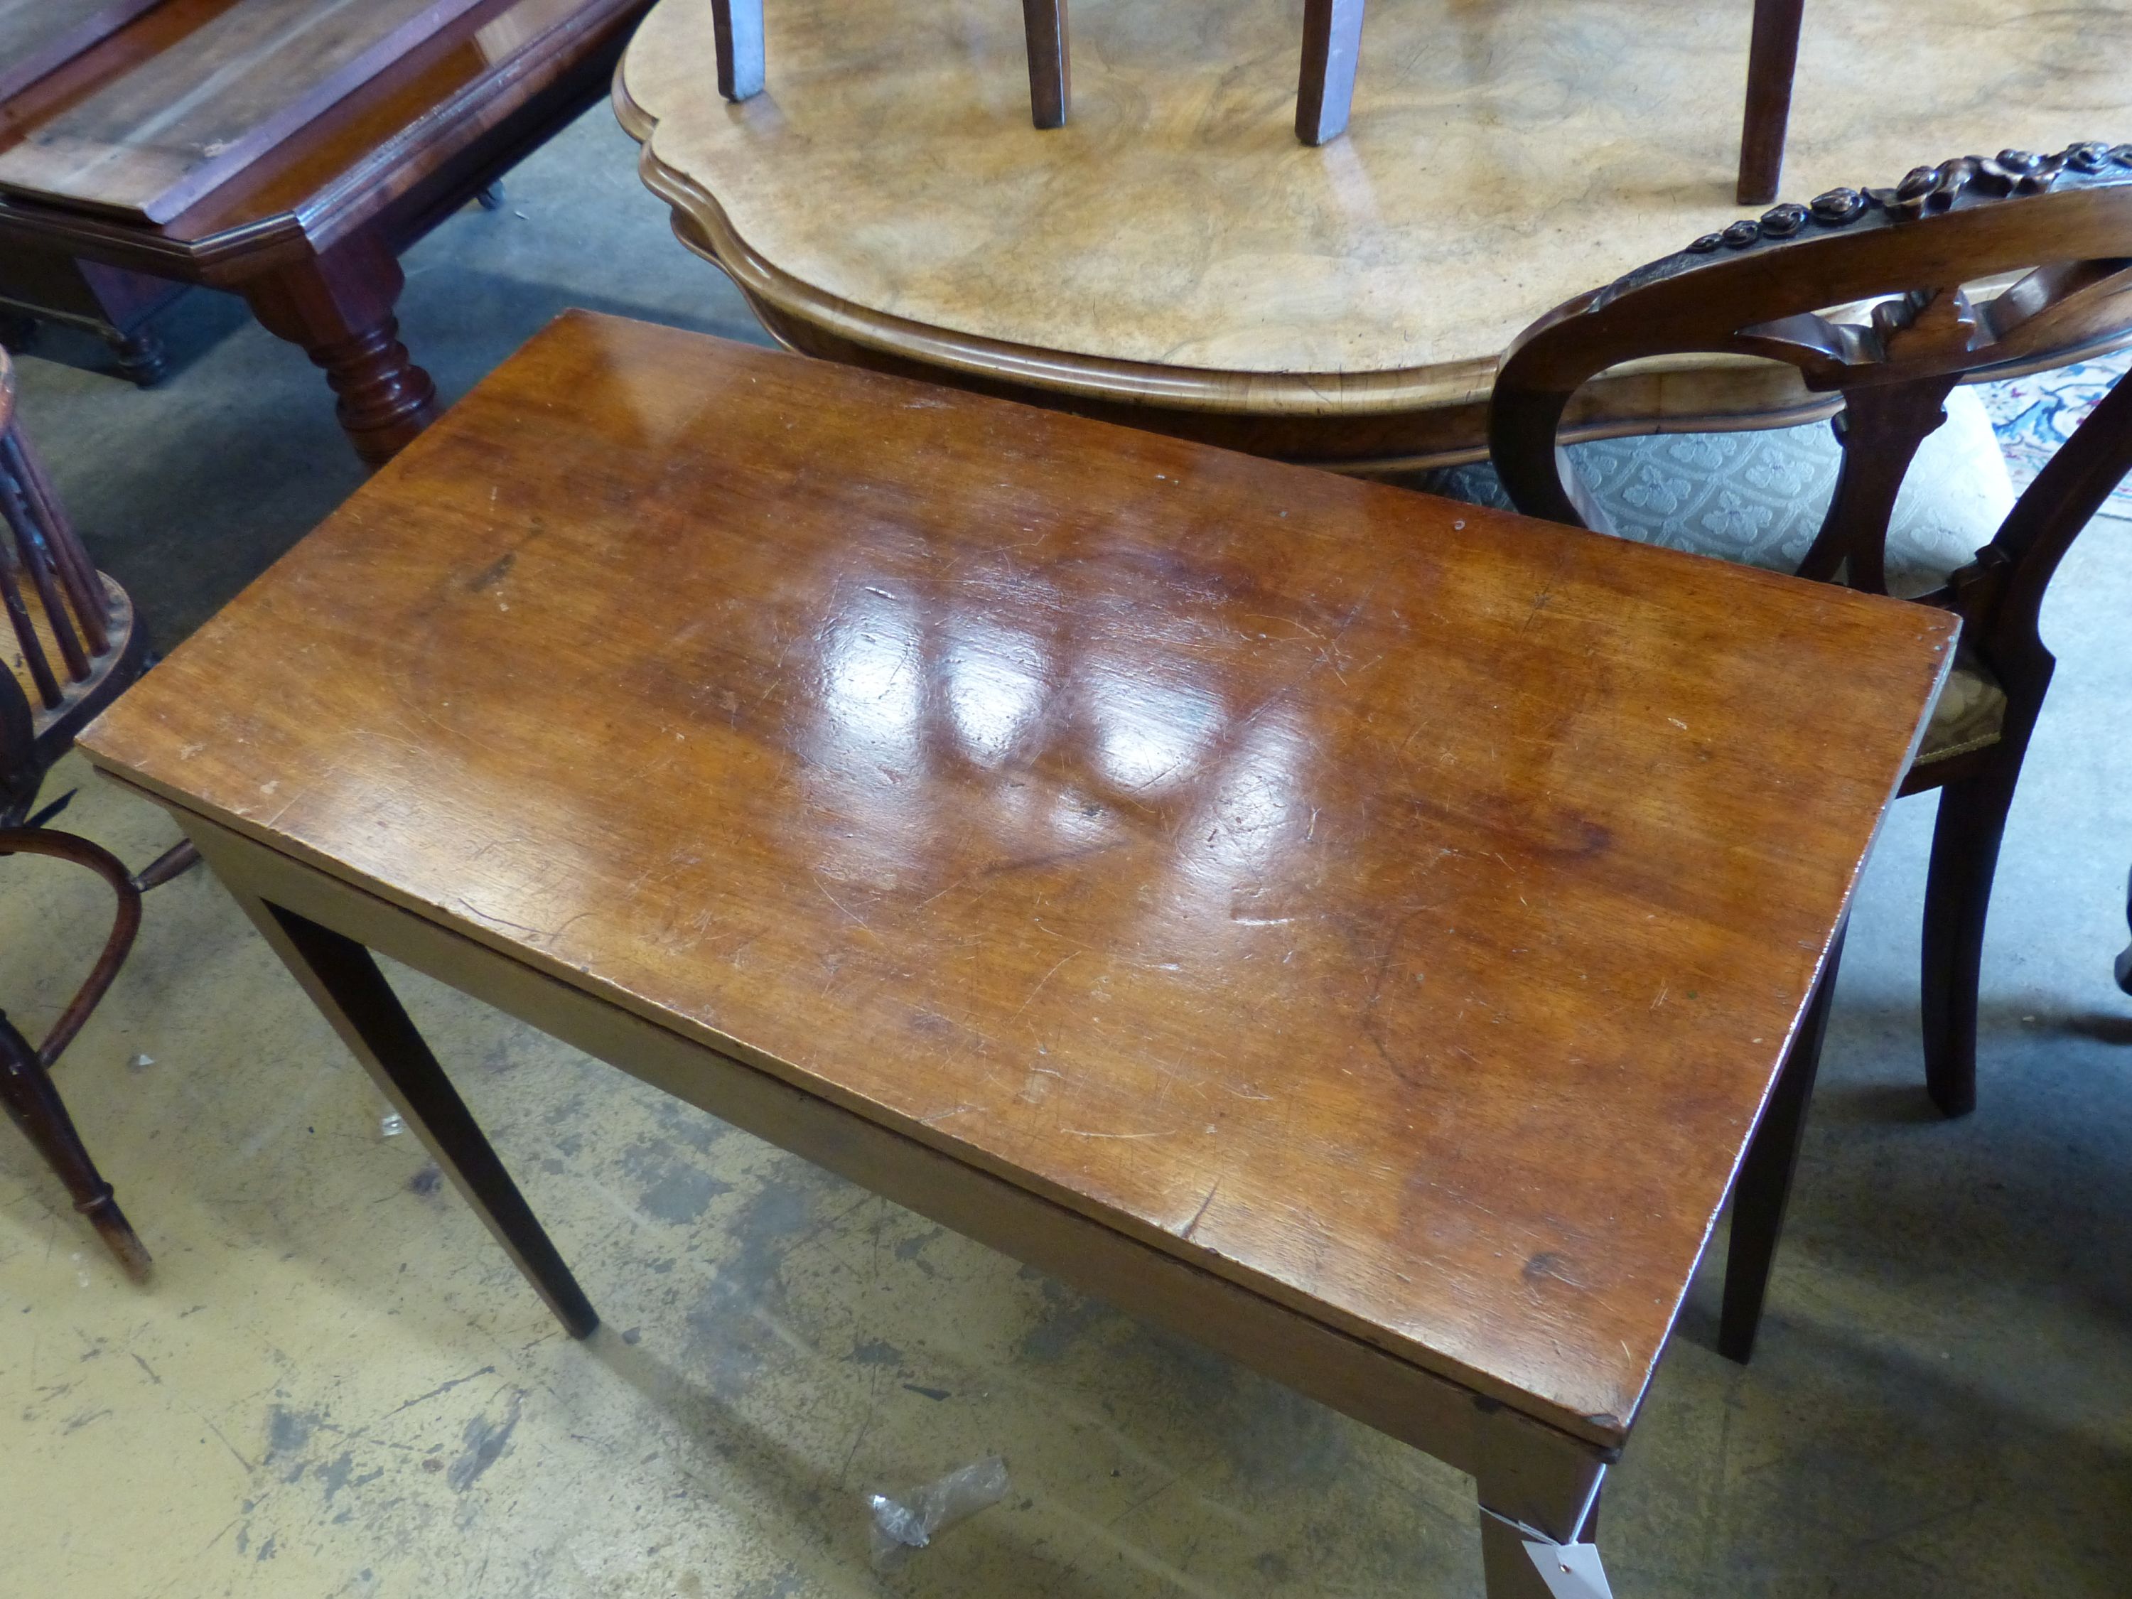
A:
[[[1989,298],[1966,288],[2015,273]],[[1861,303],[1872,305],[1863,320],[1831,313]],[[1556,456],[1563,411],[1584,382],[1648,356],[1784,360],[1808,388],[1844,397],[1844,469],[1799,576],[1844,571],[1853,586],[1885,593],[1893,497],[1940,424],[1947,392],[2042,350],[2123,335],[2132,335],[2132,145],[1970,156],[1919,166],[1893,190],[1831,190],[1812,205],[1772,207],[1556,307],[1503,360],[1488,446],[1518,510],[1590,524]],[[2038,512],[2064,499],[2079,463],[2083,478],[2109,475],[2111,486],[2132,467],[2132,435],[2111,426],[2113,409],[2100,407],[2055,471],[2038,478],[1987,565],[2013,554],[2008,544],[2034,552]],[[2079,522],[2064,539],[2077,531]],[[1983,620],[1981,608],[1957,608],[1972,627]]]

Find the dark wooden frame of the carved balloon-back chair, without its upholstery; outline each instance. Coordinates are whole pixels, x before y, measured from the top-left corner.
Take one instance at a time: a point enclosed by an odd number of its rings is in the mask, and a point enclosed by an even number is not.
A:
[[[1878,588],[1902,469],[1966,377],[2132,333],[2132,145],[2002,151],[1919,166],[1887,190],[1831,190],[1697,239],[1535,322],[1497,377],[1490,448],[1535,516],[1578,522],[1556,437],[1576,390],[1625,360],[1735,352],[1795,365],[1842,394],[1844,467],[1804,576]],[[1964,284],[2017,275],[1991,298]],[[1893,298],[1880,298],[1893,296]],[[1863,322],[1821,307],[1878,301]],[[1923,1036],[1934,1102],[1976,1102],[1976,981],[1991,872],[2030,729],[2055,665],[2036,627],[2066,548],[2132,467],[2132,388],[2119,384],[2021,495],[1976,561],[1927,595],[1964,618],[2006,693],[1998,740],[1921,761],[1906,791],[1940,789],[1925,887]]]

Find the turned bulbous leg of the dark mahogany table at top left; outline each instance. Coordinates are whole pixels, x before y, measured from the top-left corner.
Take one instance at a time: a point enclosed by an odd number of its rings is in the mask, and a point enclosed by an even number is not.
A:
[[[243,286],[260,326],[324,369],[341,431],[371,467],[437,420],[437,386],[407,356],[392,316],[405,284],[392,252],[356,235]]]

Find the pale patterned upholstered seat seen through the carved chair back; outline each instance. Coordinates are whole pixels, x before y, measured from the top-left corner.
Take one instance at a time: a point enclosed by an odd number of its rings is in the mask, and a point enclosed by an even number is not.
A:
[[[1567,446],[1578,484],[1605,533],[1637,544],[1797,571],[1821,531],[1844,452],[1827,422],[1748,433],[1657,433]],[[1422,486],[1469,505],[1512,510],[1495,467],[1443,467]],[[1947,420],[1925,435],[1887,531],[1887,588],[1912,599],[1940,588],[1991,542],[2013,510],[2013,480],[1983,403],[1947,397]],[[1927,765],[1998,742],[2006,695],[1961,650],[1917,761]]]

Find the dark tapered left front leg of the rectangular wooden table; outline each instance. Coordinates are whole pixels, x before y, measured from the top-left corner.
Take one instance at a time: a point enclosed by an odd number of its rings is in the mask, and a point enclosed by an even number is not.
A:
[[[237,885],[230,891],[556,1320],[571,1337],[591,1335],[599,1326],[599,1313],[503,1170],[371,951]]]

